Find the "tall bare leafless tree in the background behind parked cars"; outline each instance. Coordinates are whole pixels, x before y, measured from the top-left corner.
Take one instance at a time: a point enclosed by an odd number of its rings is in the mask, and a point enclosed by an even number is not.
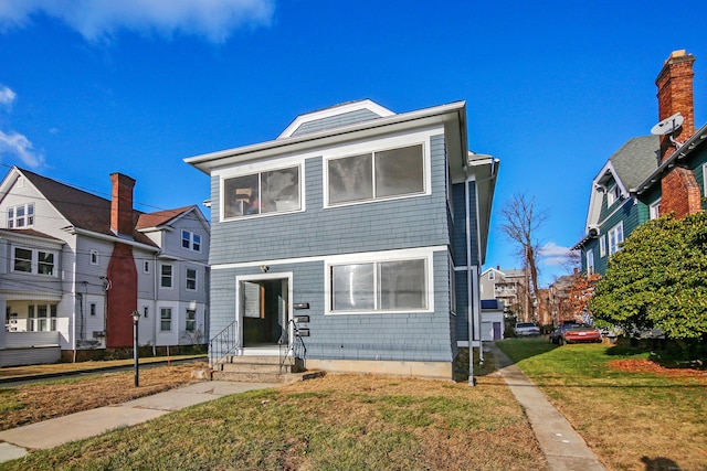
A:
[[[547,211],[539,210],[535,205],[535,197],[528,197],[525,193],[517,193],[506,201],[500,214],[505,222],[500,231],[516,244],[516,253],[523,260],[526,272],[527,313],[537,319],[538,297],[538,263],[540,242],[537,233],[547,221]]]

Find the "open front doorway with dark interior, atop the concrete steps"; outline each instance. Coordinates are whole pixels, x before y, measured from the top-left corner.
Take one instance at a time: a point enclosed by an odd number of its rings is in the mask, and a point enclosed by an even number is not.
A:
[[[287,278],[240,281],[240,334],[244,349],[270,350],[289,344]]]

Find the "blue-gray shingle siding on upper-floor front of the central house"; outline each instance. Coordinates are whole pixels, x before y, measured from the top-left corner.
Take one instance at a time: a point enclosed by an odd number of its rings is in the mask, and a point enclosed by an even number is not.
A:
[[[447,245],[444,138],[431,142],[432,194],[324,208],[323,158],[305,162],[306,211],[217,222],[210,264]],[[212,214],[220,212],[212,178]],[[218,217],[218,216],[215,216]],[[215,220],[214,217],[214,220]]]

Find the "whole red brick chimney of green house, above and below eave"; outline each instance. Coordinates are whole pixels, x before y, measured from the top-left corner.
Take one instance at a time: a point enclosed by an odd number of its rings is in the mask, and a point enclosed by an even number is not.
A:
[[[693,99],[693,64],[695,56],[685,50],[674,51],[663,64],[655,79],[658,87],[658,119],[676,113],[683,115],[683,126],[674,135],[677,142],[685,142],[695,133],[695,105]],[[661,162],[675,152],[668,136],[661,136]],[[690,169],[673,167],[661,180],[661,214],[673,213],[683,217],[701,210],[699,185]]]

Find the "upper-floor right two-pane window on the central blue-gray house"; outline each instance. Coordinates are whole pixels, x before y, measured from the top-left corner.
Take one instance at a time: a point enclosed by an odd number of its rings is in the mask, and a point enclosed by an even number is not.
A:
[[[424,192],[422,144],[327,162],[329,204],[369,201]]]

